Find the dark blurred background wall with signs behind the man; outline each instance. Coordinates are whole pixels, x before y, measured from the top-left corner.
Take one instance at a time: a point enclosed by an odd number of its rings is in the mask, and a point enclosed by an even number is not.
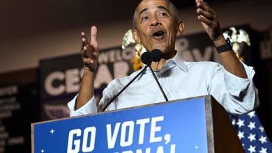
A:
[[[184,38],[190,40],[190,44],[195,44],[188,47],[193,50],[192,46],[201,44],[202,38],[209,39],[205,34],[197,38],[197,42],[190,39],[204,33],[197,21],[195,1],[172,2],[185,23]],[[248,52],[244,51],[245,63],[255,67],[257,72],[255,85],[259,89],[261,103],[257,114],[271,140],[272,1],[207,2],[218,13],[222,29],[236,26],[250,35],[251,46],[245,49]],[[91,26],[96,25],[100,49],[104,51],[103,55],[109,57],[100,61],[100,65],[107,65],[104,68],[101,66],[100,75],[111,77],[98,80],[98,95],[108,81],[123,77],[120,68],[114,70],[117,65],[114,62],[130,63],[133,57],[126,56],[131,51],[127,49],[124,53],[121,45],[123,35],[133,28],[133,13],[137,3],[125,0],[0,1],[0,152],[22,149],[30,152],[31,122],[67,117],[66,103],[75,96],[80,82],[77,76],[80,76],[82,67],[79,56],[82,31],[89,33]],[[207,45],[211,45],[211,42],[207,42]],[[199,49],[205,54],[203,46]],[[194,56],[190,59],[216,61],[215,57],[199,59]],[[133,72],[130,64],[121,66],[128,67],[123,75]],[[54,79],[59,81],[52,81]]]

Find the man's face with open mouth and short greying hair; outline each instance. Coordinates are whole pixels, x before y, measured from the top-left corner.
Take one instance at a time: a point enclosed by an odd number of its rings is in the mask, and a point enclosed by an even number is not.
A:
[[[174,51],[178,24],[174,11],[165,0],[144,0],[136,10],[136,42],[142,42],[151,51],[160,49],[163,54]]]

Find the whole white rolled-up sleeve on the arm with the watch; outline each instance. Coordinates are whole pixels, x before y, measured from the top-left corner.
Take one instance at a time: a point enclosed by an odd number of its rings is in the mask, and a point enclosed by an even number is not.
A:
[[[257,88],[252,80],[255,71],[253,67],[242,64],[248,76],[247,79],[236,77],[220,65],[214,69],[211,81],[213,86],[211,95],[214,95],[229,113],[236,115],[248,113],[259,105]],[[220,81],[222,77],[224,80]]]

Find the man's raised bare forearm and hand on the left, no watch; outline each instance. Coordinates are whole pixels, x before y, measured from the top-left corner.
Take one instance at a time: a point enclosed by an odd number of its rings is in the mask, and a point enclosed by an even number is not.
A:
[[[93,84],[99,55],[96,34],[96,26],[92,26],[91,42],[88,42],[85,33],[82,32],[82,48],[80,52],[82,54],[82,61],[84,63],[84,73],[80,86],[80,92],[78,94],[77,102],[75,104],[75,110],[84,106],[84,104],[86,104],[86,102],[89,102],[91,97],[93,97]]]

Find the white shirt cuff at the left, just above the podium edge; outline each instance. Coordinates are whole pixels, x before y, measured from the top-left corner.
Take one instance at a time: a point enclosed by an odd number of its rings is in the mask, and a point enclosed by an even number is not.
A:
[[[77,115],[86,115],[89,113],[97,113],[97,107],[96,107],[96,99],[91,97],[89,102],[84,104],[84,106],[80,107],[79,109],[75,110],[75,102],[77,101],[78,94],[70,101],[68,102],[68,108],[70,109],[70,116],[77,116]]]

